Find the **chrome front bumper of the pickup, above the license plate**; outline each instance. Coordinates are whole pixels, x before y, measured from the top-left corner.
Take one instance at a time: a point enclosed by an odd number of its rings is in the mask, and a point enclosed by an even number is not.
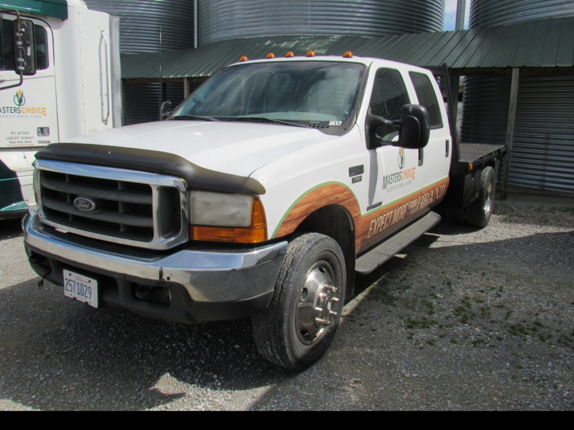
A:
[[[115,279],[120,290],[125,282],[168,288],[174,285],[182,286],[194,306],[201,303],[226,303],[226,308],[230,308],[234,302],[245,302],[258,297],[270,300],[288,246],[286,241],[250,249],[215,246],[200,248],[201,245],[196,245],[196,248],[181,249],[171,255],[148,253],[142,256],[141,252],[138,255],[137,249],[130,252],[130,248],[126,247],[112,247],[106,251],[87,247],[85,238],[58,232],[42,224],[34,208],[30,208],[22,221],[22,227],[30,263],[45,257],[52,272],[61,272],[61,267],[65,266],[68,269],[77,268],[80,271],[87,270],[88,273],[100,273]],[[44,265],[47,267],[46,263]],[[39,266],[32,264],[32,267],[44,276],[37,269]],[[47,276],[58,284],[61,283],[60,277],[61,273]],[[123,296],[127,299],[126,294]],[[103,299],[105,303],[105,295]],[[130,308],[122,306],[119,299],[110,302],[119,307]],[[137,312],[132,308],[130,310]],[[235,312],[228,313],[235,315]],[[150,311],[145,314],[150,314]],[[172,319],[163,316],[158,318]],[[190,319],[205,320],[204,316],[198,319],[193,315]],[[226,318],[219,315],[208,319]]]

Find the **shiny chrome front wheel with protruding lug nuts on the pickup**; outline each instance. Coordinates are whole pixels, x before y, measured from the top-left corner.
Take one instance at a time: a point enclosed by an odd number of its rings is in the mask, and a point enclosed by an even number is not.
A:
[[[327,333],[342,307],[341,288],[335,285],[333,269],[326,261],[307,272],[295,311],[297,337],[312,345]]]

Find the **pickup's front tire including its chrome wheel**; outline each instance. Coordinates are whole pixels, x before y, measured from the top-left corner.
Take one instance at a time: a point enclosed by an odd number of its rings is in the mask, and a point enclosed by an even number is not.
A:
[[[251,318],[259,354],[289,369],[307,369],[321,358],[339,325],[346,271],[331,237],[306,233],[289,243],[275,294]]]

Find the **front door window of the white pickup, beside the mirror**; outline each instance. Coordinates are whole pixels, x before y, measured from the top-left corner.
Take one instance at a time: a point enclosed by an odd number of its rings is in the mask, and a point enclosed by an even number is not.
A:
[[[385,119],[399,119],[402,106],[409,103],[409,95],[401,73],[393,69],[378,69],[369,103],[371,114]],[[398,128],[395,126],[383,125],[377,128],[377,136],[383,140],[390,140],[389,135],[397,131]]]

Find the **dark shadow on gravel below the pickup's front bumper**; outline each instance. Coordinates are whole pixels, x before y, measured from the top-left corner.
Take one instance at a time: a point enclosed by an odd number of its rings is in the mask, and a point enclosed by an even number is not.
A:
[[[257,354],[249,319],[164,322],[92,309],[37,282],[0,290],[0,398],[41,409],[145,409],[187,396],[173,380],[170,392],[158,388],[166,374],[212,390],[292,375]]]

